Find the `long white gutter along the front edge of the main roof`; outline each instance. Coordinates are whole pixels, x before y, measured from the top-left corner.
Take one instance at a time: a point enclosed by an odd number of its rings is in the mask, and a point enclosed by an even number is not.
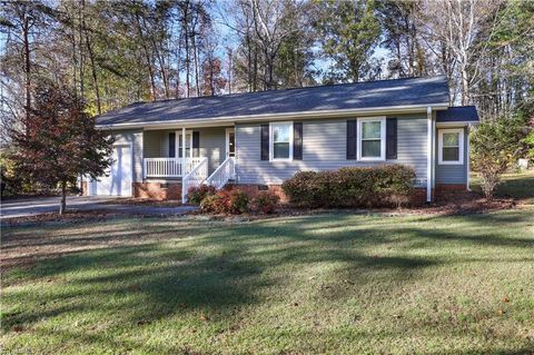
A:
[[[445,110],[448,108],[448,103],[439,102],[433,103],[428,107],[435,110]],[[201,126],[225,126],[234,125],[238,121],[255,121],[255,120],[280,120],[280,119],[314,119],[314,118],[333,118],[333,117],[346,117],[350,115],[376,115],[376,114],[412,114],[424,112],[427,105],[403,105],[403,106],[389,106],[389,107],[370,107],[362,109],[343,109],[343,110],[319,110],[319,111],[296,111],[285,114],[261,114],[261,115],[244,115],[244,116],[225,116],[225,117],[211,117],[199,119],[176,119],[176,120],[161,120],[151,122],[123,122],[115,125],[97,125],[97,128],[102,129],[161,129],[166,127],[176,127],[177,125],[185,127],[201,127]]]

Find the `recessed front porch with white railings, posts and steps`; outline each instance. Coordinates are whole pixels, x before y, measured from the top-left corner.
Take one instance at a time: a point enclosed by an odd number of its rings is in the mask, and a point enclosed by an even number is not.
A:
[[[147,190],[179,187],[185,203],[190,187],[221,188],[235,179],[234,127],[145,130],[142,141],[142,188]]]

